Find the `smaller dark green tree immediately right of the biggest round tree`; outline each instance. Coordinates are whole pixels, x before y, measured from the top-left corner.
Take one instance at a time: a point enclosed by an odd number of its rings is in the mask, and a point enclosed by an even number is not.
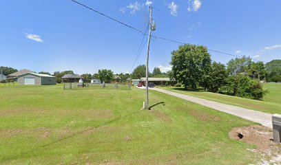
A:
[[[222,63],[212,63],[211,64],[211,72],[209,72],[209,90],[212,92],[218,92],[220,87],[223,85],[226,85],[227,83],[227,69],[225,68],[225,65]]]

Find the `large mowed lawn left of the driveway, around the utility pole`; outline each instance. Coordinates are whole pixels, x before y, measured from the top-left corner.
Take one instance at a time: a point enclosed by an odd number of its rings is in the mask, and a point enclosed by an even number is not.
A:
[[[227,113],[145,90],[0,87],[0,164],[251,164],[229,139],[252,125]]]

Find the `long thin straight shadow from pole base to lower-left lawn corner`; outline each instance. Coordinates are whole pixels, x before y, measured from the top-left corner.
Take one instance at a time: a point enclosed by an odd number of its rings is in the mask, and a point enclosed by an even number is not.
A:
[[[104,122],[104,123],[98,124],[97,126],[94,126],[94,127],[90,128],[90,129],[86,129],[86,130],[83,130],[83,131],[78,131],[78,132],[76,132],[76,133],[73,133],[72,135],[68,135],[68,136],[66,136],[66,137],[62,137],[62,138],[59,139],[59,140],[56,140],[56,141],[54,141],[54,142],[50,142],[50,143],[48,143],[48,144],[44,144],[44,145],[42,145],[42,146],[39,146],[39,147],[37,147],[37,148],[33,148],[33,149],[31,149],[31,150],[29,150],[29,151],[26,151],[26,152],[23,152],[23,153],[19,153],[19,154],[17,154],[17,155],[12,156],[12,157],[3,157],[2,161],[3,161],[3,162],[7,162],[7,161],[12,160],[12,159],[17,159],[17,158],[19,158],[20,156],[23,156],[23,155],[25,155],[25,154],[32,153],[32,152],[37,151],[37,150],[39,150],[39,149],[41,149],[41,148],[44,148],[44,147],[46,147],[46,146],[51,146],[52,144],[56,144],[56,143],[61,142],[61,141],[63,141],[63,140],[67,140],[67,139],[69,139],[69,138],[71,138],[71,137],[74,137],[74,136],[76,136],[76,135],[80,135],[81,133],[85,133],[85,132],[87,132],[87,131],[91,131],[92,129],[97,129],[97,128],[100,127],[100,126],[105,126],[105,125],[107,125],[107,124],[111,124],[112,122],[116,122],[116,121],[118,121],[118,120],[122,120],[123,118],[127,118],[128,116],[134,115],[134,114],[139,113],[139,112],[141,112],[141,111],[136,111],[136,112],[134,112],[134,113],[129,113],[128,115],[123,115],[123,116],[121,116],[120,118],[115,118],[115,119],[110,120],[110,121],[108,121],[108,122]],[[2,161],[1,161],[1,163],[3,163]]]

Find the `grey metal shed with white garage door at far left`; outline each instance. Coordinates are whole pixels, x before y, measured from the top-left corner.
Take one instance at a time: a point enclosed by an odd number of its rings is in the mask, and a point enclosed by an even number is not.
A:
[[[56,85],[56,77],[30,72],[18,76],[17,83],[18,85]]]

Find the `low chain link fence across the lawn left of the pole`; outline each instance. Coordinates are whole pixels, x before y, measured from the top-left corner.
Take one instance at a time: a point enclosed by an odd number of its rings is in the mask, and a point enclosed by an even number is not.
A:
[[[121,90],[131,90],[132,85],[130,83],[101,83],[101,84],[91,84],[91,83],[63,83],[63,90],[69,89],[121,89]]]

